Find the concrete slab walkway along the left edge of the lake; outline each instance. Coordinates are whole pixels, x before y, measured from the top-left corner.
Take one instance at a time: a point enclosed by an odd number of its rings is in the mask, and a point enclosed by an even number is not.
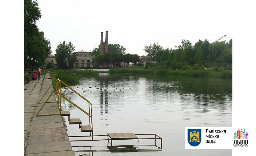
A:
[[[64,122],[60,115],[35,116],[43,104],[39,100],[51,85],[49,73],[40,80],[30,81],[24,88],[24,155],[26,156],[74,156]],[[41,102],[46,101],[53,87]],[[49,101],[56,101],[55,94]],[[47,103],[40,115],[58,113],[57,103]]]

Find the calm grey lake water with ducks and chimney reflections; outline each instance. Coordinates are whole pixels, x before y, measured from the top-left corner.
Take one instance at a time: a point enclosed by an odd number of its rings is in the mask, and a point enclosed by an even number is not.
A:
[[[82,78],[80,85],[71,87],[74,89],[78,87],[77,92],[93,104],[93,135],[133,132],[135,134],[156,133],[163,138],[162,151],[134,153],[107,151],[107,141],[71,142],[72,146],[86,146],[73,147],[73,150],[80,150],[75,152],[77,156],[89,154],[94,156],[232,155],[231,149],[185,150],[184,143],[185,127],[232,126],[232,79],[100,73],[98,77]],[[96,89],[99,87],[102,87],[102,90]],[[106,88],[108,88],[107,91],[104,91]],[[89,92],[83,92],[83,90],[89,90]],[[88,110],[88,103],[75,93],[63,92],[62,94],[84,110]],[[88,116],[79,109],[68,107],[67,101],[63,101],[62,105],[63,110],[71,112],[71,118],[80,118],[82,125],[89,125]],[[66,124],[68,136],[89,134],[89,132],[81,133],[76,124],[69,125],[67,118]],[[87,139],[91,138],[70,138],[70,140]],[[106,137],[94,137],[94,139],[106,139]],[[139,140],[139,147],[137,140],[115,140],[113,145],[134,145],[134,149],[150,150],[157,149],[160,146],[160,140],[156,140],[157,146],[153,146],[154,140]],[[93,153],[81,151],[89,149],[97,151]]]

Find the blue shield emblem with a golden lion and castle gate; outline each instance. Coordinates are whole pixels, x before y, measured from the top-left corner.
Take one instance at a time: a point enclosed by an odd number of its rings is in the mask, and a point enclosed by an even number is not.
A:
[[[201,129],[188,129],[188,142],[191,146],[198,146],[201,142]]]

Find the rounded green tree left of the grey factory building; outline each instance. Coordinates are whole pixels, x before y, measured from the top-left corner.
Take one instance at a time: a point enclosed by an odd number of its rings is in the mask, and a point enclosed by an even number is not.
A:
[[[76,61],[75,46],[71,41],[67,44],[65,41],[60,43],[56,48],[55,59],[58,65],[58,68],[61,69],[73,69]]]

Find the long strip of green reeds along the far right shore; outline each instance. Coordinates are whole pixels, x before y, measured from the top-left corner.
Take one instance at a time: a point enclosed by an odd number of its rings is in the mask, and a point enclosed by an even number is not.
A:
[[[171,69],[143,69],[124,68],[110,69],[109,73],[133,73],[158,76],[187,76],[187,77],[222,77],[232,78],[232,70],[226,69],[199,69],[199,70],[171,70]]]

